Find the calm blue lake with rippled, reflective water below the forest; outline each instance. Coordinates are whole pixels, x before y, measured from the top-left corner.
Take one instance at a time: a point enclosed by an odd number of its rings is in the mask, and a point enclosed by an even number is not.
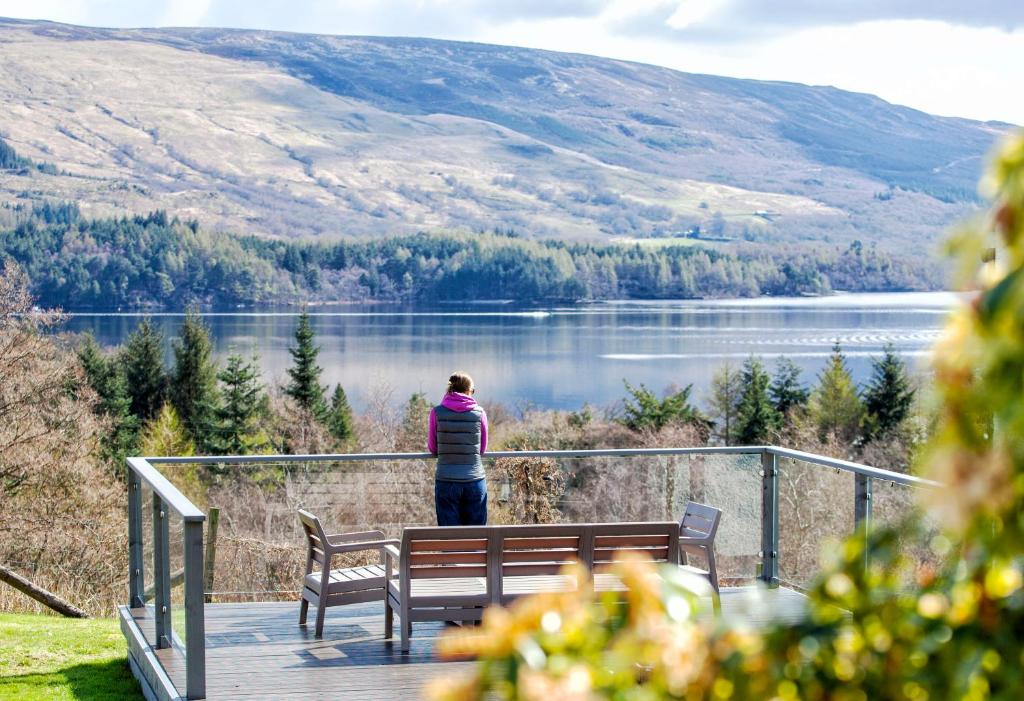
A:
[[[419,391],[437,399],[453,369],[474,377],[482,401],[574,409],[621,399],[624,379],[657,391],[692,383],[694,398],[705,404],[715,368],[738,365],[752,353],[770,371],[775,358],[792,358],[810,384],[836,341],[858,382],[866,381],[871,357],[890,342],[922,368],[956,299],[949,293],[893,293],[542,308],[346,305],[316,307],[311,315],[324,382],[341,383],[357,410],[375,393],[388,393],[395,402]],[[204,314],[217,356],[255,349],[268,383],[285,378],[297,315],[294,309]],[[142,316],[75,314],[66,328],[91,331],[112,346]],[[183,317],[150,316],[168,339]]]

